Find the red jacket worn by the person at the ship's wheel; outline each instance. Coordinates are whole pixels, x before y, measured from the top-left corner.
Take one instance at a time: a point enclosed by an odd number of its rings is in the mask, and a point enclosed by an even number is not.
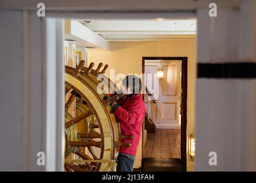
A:
[[[141,126],[145,115],[145,105],[141,94],[135,94],[124,101],[117,101],[119,107],[113,112],[120,122],[121,134],[133,136],[133,140],[124,139],[121,142],[129,142],[129,148],[120,147],[120,153],[136,156],[140,140]]]

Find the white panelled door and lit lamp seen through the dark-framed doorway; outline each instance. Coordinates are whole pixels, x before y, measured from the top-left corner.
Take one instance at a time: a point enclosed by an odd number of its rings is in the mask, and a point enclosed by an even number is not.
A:
[[[163,78],[145,81],[145,86],[156,99],[153,103],[145,97],[145,106],[150,112],[148,115],[156,128],[180,129],[182,61],[145,60],[145,74],[157,75],[158,70],[163,70]]]

